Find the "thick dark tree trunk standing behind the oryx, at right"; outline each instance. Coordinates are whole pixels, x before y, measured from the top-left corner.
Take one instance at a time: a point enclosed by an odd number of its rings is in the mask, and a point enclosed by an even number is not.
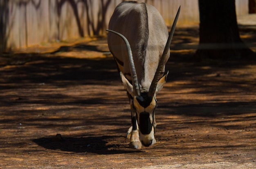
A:
[[[199,0],[200,42],[196,59],[255,57],[240,39],[235,0]]]

